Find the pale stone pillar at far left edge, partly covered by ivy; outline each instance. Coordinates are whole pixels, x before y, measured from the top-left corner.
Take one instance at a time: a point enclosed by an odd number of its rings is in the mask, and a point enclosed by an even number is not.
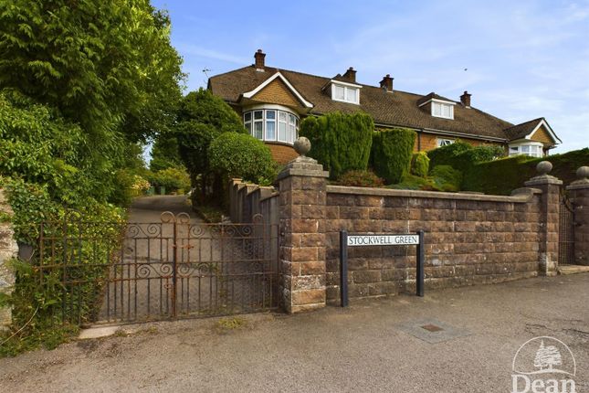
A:
[[[0,188],[0,292],[10,294],[15,284],[15,273],[6,265],[9,260],[18,255],[18,246],[13,237],[14,231],[10,222],[2,220],[2,216],[12,216],[12,208],[5,200],[4,192]],[[0,308],[0,331],[12,324],[12,310]]]

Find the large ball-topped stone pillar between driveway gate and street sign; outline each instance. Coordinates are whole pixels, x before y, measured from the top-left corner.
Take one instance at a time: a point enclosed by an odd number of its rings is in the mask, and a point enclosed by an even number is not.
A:
[[[325,306],[325,232],[328,172],[306,157],[307,138],[295,142],[300,154],[279,174],[279,230],[284,309],[288,313]]]

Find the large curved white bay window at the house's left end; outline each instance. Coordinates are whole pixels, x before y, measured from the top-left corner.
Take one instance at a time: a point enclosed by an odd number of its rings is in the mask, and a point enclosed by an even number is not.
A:
[[[255,112],[261,111],[262,112],[262,118],[261,119],[254,119]],[[274,119],[268,119],[268,112],[275,112],[275,118]],[[250,120],[246,120],[247,115],[249,114],[249,119]],[[280,115],[283,114],[286,118],[286,121],[280,121]],[[296,113],[290,112],[288,110],[287,107],[283,107],[280,105],[256,105],[254,107],[251,108],[247,108],[244,110],[243,114],[242,114],[242,120],[244,122],[244,126],[246,127],[247,131],[249,132],[250,135],[252,135],[253,137],[259,139],[260,141],[265,141],[265,142],[278,142],[278,143],[288,143],[288,144],[294,144],[294,142],[297,140],[297,137],[299,135],[299,116]],[[255,134],[255,123],[256,122],[261,122],[262,124],[262,138],[258,138],[258,136]],[[268,138],[268,130],[267,130],[267,123],[268,122],[274,122],[274,138]],[[285,138],[280,138],[280,125],[284,126],[285,129]]]

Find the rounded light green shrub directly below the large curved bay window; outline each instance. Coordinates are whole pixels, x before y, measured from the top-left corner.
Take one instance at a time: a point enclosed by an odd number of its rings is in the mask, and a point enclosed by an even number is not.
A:
[[[211,170],[225,179],[241,177],[268,185],[276,176],[270,149],[245,133],[222,133],[208,148]]]

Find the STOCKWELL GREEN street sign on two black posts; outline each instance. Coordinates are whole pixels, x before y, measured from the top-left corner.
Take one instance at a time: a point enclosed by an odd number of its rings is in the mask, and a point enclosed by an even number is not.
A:
[[[416,245],[416,271],[415,294],[424,295],[424,258],[426,247],[424,244],[424,231],[418,230],[415,234],[357,234],[348,235],[346,230],[340,231],[340,301],[342,307],[348,306],[348,247],[362,246],[411,246]]]

